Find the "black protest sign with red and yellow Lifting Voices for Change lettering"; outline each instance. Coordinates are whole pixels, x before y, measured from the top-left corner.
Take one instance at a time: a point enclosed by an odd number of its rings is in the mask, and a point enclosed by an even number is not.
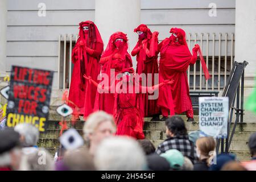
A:
[[[11,68],[6,119],[8,127],[14,127],[19,123],[31,123],[39,131],[45,131],[52,78],[52,71],[18,66]]]

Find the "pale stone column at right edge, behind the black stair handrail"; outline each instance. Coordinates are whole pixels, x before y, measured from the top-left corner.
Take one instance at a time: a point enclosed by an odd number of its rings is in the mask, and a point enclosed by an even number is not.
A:
[[[256,74],[256,1],[236,0],[236,49],[235,60],[246,60],[245,102],[253,90]],[[245,112],[245,122],[255,122],[256,115]]]

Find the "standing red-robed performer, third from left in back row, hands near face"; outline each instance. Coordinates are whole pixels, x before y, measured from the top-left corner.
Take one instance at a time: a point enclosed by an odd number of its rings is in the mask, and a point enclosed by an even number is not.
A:
[[[152,44],[152,32],[145,24],[140,24],[134,29],[137,32],[139,40],[131,51],[132,56],[136,56],[137,60],[137,70],[138,74],[145,73],[146,79],[150,79],[151,85],[154,85],[154,73],[158,73],[158,55],[156,50],[158,49],[158,44]],[[148,73],[152,74],[152,77],[148,77]],[[146,83],[147,84],[147,83]],[[146,85],[144,85],[146,86]],[[148,86],[148,85],[147,85]],[[157,106],[157,100],[149,100],[149,93],[142,94],[144,101],[144,115],[146,117],[158,115],[157,121],[159,121],[159,107]]]

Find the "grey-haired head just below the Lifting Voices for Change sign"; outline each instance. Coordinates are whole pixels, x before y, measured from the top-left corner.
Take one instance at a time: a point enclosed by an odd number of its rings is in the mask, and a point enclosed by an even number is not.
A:
[[[14,130],[20,134],[20,142],[23,147],[36,146],[39,139],[39,130],[29,123],[21,123],[14,127]]]

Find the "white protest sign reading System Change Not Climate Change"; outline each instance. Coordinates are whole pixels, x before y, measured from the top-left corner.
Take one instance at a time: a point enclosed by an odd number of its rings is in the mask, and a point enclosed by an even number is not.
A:
[[[201,135],[226,138],[228,136],[228,115],[228,97],[199,97]]]

